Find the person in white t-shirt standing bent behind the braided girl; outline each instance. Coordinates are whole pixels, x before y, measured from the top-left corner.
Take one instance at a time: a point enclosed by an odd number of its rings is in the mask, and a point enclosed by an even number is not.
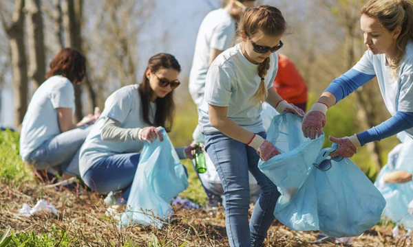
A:
[[[253,7],[254,2],[255,0],[226,0],[224,8],[209,12],[202,21],[196,38],[189,75],[189,93],[197,107],[200,107],[204,99],[205,80],[209,66],[222,51],[234,45],[236,23],[246,8]],[[199,126],[196,126],[193,132],[193,139],[204,143]],[[209,198],[208,207],[212,209],[222,202],[222,186],[213,165],[209,163],[207,165],[209,165],[207,172],[200,174],[199,178]],[[255,180],[253,182],[256,184]],[[259,193],[260,189],[252,189],[252,192],[254,191]]]

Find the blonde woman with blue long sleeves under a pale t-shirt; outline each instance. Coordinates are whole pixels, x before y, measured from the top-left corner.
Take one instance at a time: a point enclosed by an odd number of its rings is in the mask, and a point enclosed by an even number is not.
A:
[[[330,137],[339,144],[331,156],[351,157],[362,145],[401,131],[413,138],[413,3],[370,0],[361,10],[360,24],[368,51],[352,69],[331,82],[306,114],[304,135],[310,139],[319,136],[328,108],[374,77],[392,117],[351,137]]]

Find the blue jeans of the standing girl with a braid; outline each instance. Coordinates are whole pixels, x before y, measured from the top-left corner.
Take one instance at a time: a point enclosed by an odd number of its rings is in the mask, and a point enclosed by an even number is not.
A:
[[[266,138],[265,132],[258,134]],[[258,169],[260,156],[253,148],[221,132],[204,134],[204,138],[205,150],[215,165],[224,188],[226,233],[230,246],[261,246],[268,228],[275,219],[273,213],[280,195],[277,186]],[[249,226],[248,170],[262,191],[255,204]]]

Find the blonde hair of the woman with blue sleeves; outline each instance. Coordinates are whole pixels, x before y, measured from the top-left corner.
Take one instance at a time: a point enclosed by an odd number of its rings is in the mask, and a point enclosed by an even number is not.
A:
[[[370,0],[361,9],[361,14],[377,19],[389,32],[401,27],[396,40],[396,56],[389,64],[394,75],[397,75],[407,41],[413,38],[413,3],[407,0]]]

